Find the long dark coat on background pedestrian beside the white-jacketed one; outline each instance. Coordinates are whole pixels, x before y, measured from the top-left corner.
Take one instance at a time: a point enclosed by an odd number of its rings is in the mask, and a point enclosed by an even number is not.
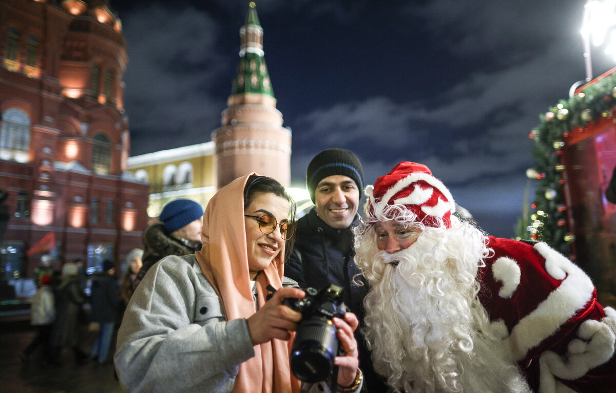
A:
[[[79,277],[65,277],[55,292],[56,316],[51,338],[53,346],[74,347],[78,344],[79,314],[85,301],[84,293],[79,288]]]

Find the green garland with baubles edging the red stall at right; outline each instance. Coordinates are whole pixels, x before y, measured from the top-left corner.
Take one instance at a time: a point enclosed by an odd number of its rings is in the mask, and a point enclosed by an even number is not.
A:
[[[565,170],[561,162],[563,138],[567,133],[585,127],[588,122],[612,116],[615,97],[616,75],[610,73],[569,100],[560,100],[558,105],[539,116],[541,124],[529,134],[535,141],[534,169],[527,171],[530,178],[538,180],[535,202],[531,205],[530,225],[519,229],[517,236],[528,238],[530,234],[531,239],[546,242],[564,255],[570,255],[569,242],[575,237],[567,232],[567,207],[561,175]],[[521,233],[524,229],[526,232]]]

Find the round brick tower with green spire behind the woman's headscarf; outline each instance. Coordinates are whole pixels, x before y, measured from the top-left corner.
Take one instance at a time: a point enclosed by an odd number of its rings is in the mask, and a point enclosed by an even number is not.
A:
[[[250,172],[285,186],[291,180],[291,131],[282,126],[263,51],[263,29],[254,2],[240,28],[240,63],[222,126],[214,130],[217,187]]]

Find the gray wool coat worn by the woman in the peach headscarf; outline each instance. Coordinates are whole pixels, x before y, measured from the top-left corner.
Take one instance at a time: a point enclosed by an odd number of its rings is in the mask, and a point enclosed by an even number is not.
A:
[[[114,362],[130,392],[229,393],[240,363],[253,356],[248,322],[225,321],[193,254],[168,256],[147,272],[124,314]],[[302,392],[323,391],[323,383],[302,384]]]

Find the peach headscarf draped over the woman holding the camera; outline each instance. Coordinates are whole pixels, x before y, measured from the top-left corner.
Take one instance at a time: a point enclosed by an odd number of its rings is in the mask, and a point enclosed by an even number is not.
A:
[[[251,173],[256,175],[256,173]],[[233,180],[209,200],[203,215],[203,248],[195,253],[203,276],[220,296],[227,320],[248,318],[256,312],[248,271],[244,187],[250,175]],[[257,275],[259,307],[265,303],[267,284],[282,287],[284,245],[272,263]],[[254,346],[254,357],[240,364],[233,393],[299,392],[299,383],[289,366],[285,341],[272,339]]]

